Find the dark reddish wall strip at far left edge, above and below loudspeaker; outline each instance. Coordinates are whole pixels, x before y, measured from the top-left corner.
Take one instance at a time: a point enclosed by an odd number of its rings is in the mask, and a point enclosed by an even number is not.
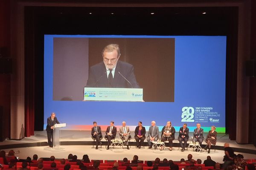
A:
[[[0,48],[3,57],[10,57],[10,1],[0,1]],[[0,128],[0,141],[10,137],[11,75],[0,74],[0,106],[3,106],[3,128]]]

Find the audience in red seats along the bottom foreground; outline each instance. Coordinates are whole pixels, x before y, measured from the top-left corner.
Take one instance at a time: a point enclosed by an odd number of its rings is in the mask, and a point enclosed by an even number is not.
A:
[[[5,164],[2,157],[0,158],[0,163]],[[220,170],[222,168],[221,164],[213,161],[210,156],[207,156],[207,159],[204,161],[203,164],[201,163],[201,159],[198,159],[196,161],[192,159],[191,154],[188,155],[188,160],[186,161],[184,159],[181,159],[180,161],[168,161],[167,159],[163,159],[163,161],[160,161],[159,158],[156,158],[155,161],[140,161],[138,159],[138,156],[135,155],[132,161],[124,158],[123,160],[118,161],[105,160],[104,163],[103,160],[90,160],[88,155],[84,155],[83,159],[79,160],[77,159],[76,155],[73,156],[72,154],[70,154],[68,156],[68,159],[55,159],[54,156],[51,156],[49,159],[38,159],[37,155],[33,156],[33,160],[31,160],[31,158],[29,157],[23,160],[11,159],[8,164],[3,165],[1,168],[3,168],[4,170]],[[238,155],[235,163],[235,169],[255,170],[255,166],[253,163],[256,163],[256,160],[250,159],[246,161],[243,158],[239,158]],[[253,166],[246,166],[247,164]],[[226,170],[226,167],[223,169]]]

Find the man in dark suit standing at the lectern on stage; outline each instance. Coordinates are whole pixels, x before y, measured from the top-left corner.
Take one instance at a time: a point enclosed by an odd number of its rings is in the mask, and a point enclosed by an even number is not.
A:
[[[51,113],[51,116],[47,118],[47,127],[46,127],[49,147],[53,146],[53,143],[52,143],[53,142],[53,126],[55,124],[60,124],[60,122],[58,121],[57,117],[55,117],[55,113]]]

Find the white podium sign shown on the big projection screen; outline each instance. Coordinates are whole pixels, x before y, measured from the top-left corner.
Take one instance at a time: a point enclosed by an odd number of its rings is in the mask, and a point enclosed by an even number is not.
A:
[[[85,101],[143,102],[142,88],[84,88]]]

